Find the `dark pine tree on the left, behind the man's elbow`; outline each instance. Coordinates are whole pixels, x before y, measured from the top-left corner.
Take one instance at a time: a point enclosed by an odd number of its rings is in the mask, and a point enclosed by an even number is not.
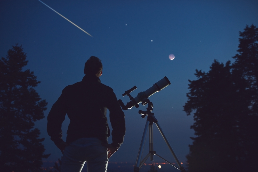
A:
[[[47,102],[35,91],[40,82],[27,65],[23,48],[16,44],[0,60],[0,169],[41,171],[45,151],[34,122],[44,118]]]

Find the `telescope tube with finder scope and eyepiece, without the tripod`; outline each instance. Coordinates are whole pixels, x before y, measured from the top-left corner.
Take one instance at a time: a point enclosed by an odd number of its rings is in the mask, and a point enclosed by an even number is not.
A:
[[[123,97],[125,95],[127,95],[130,98],[130,102],[126,103],[126,105],[124,105],[124,103],[122,102],[121,99],[119,99],[118,102],[119,102],[119,104],[120,104],[120,106],[122,107],[123,110],[131,109],[134,106],[136,108],[139,108],[139,105],[138,105],[139,103],[142,103],[142,105],[145,106],[146,104],[148,104],[148,97],[150,97],[153,94],[161,91],[162,89],[169,86],[170,84],[171,83],[167,79],[167,77],[164,77],[161,80],[159,80],[158,82],[156,82],[155,84],[153,84],[153,86],[151,86],[149,89],[147,89],[146,91],[138,93],[138,95],[135,98],[133,98],[130,95],[130,93],[137,88],[136,86],[134,86],[131,89],[128,89],[127,91],[125,91],[124,94],[122,94]]]

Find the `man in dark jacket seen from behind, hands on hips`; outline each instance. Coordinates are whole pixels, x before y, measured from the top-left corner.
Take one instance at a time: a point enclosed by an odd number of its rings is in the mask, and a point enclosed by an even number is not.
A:
[[[125,119],[113,89],[101,84],[101,60],[91,56],[84,67],[82,81],[68,85],[47,116],[47,133],[63,153],[61,172],[80,172],[87,162],[88,172],[107,171],[108,158],[124,141]],[[107,122],[112,126],[112,143]],[[62,122],[70,119],[66,142]]]

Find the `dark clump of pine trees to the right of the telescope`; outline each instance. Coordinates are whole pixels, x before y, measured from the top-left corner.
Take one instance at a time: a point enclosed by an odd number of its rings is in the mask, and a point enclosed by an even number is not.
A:
[[[214,61],[190,81],[187,115],[194,114],[197,137],[187,155],[189,171],[255,171],[258,132],[258,30],[240,32],[239,54],[232,65]]]

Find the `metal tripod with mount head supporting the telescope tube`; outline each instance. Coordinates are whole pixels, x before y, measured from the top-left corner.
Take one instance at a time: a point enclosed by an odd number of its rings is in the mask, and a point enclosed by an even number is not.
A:
[[[154,113],[151,113],[151,111],[153,110],[153,104],[152,102],[150,102],[148,99],[146,101],[146,103],[148,103],[148,107],[147,107],[147,111],[142,111],[139,110],[139,113],[142,114],[142,118],[145,118],[146,115],[147,117],[147,121],[146,121],[146,125],[143,131],[143,135],[142,135],[142,141],[140,144],[140,149],[137,155],[137,159],[136,159],[136,163],[134,166],[134,172],[139,172],[139,170],[141,169],[141,167],[143,166],[143,164],[145,163],[145,161],[148,159],[148,157],[150,157],[150,160],[153,161],[153,155],[157,155],[159,158],[163,159],[164,161],[166,161],[167,163],[169,163],[170,165],[172,165],[173,167],[181,170],[182,172],[186,172],[186,170],[184,169],[184,167],[182,166],[182,164],[180,163],[178,157],[176,156],[175,152],[173,151],[170,143],[167,140],[167,137],[165,136],[162,128],[160,127],[158,120],[154,117]],[[162,158],[161,156],[159,156],[158,154],[156,154],[156,151],[153,150],[153,122],[157,125],[160,134],[162,135],[162,137],[164,138],[169,150],[171,151],[173,157],[176,160],[176,163],[178,164],[179,168],[174,166],[171,162],[167,161],[166,159]],[[149,153],[146,155],[146,157],[141,161],[142,158],[142,154],[143,154],[143,148],[144,148],[144,143],[146,140],[146,136],[147,136],[147,132],[148,132],[148,128],[149,128]]]

